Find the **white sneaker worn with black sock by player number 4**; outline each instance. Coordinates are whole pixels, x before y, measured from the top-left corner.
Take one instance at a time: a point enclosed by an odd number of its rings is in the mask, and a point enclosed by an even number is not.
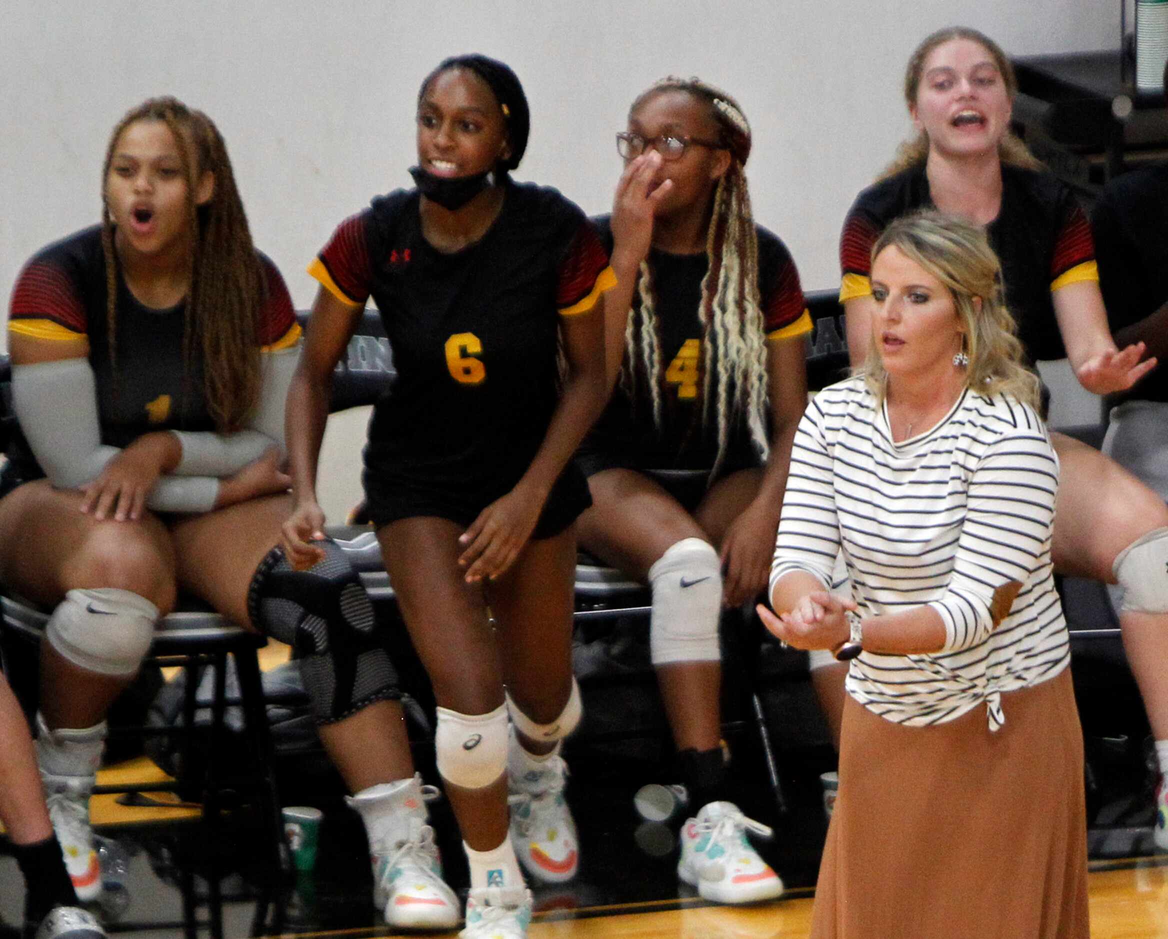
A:
[[[681,827],[677,876],[714,903],[757,903],[783,893],[783,881],[758,856],[746,832],[774,833],[734,802],[710,802]]]

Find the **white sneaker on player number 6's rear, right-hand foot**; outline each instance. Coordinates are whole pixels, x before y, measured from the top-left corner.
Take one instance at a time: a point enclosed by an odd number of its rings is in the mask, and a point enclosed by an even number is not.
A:
[[[549,757],[540,771],[509,775],[510,839],[523,869],[544,883],[576,876],[579,840],[564,799],[568,765]]]

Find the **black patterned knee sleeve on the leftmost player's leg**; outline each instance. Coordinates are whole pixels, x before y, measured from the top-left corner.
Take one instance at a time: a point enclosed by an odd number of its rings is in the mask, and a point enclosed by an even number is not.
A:
[[[296,649],[317,723],[332,724],[401,690],[360,576],[336,542],[318,543],[325,557],[306,571],[272,548],[251,578],[248,613]]]

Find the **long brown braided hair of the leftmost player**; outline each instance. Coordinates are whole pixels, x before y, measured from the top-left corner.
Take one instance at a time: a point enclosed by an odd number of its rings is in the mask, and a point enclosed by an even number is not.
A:
[[[175,98],[152,98],[130,111],[114,128],[105,155],[103,185],[109,179],[118,139],[135,120],[165,123],[179,142],[181,172],[187,181],[187,224],[192,232],[183,387],[186,391],[196,354],[201,353],[202,391],[208,411],[218,431],[232,431],[242,425],[259,397],[259,311],[266,287],[227,147],[214,123],[201,111],[188,109]],[[195,193],[204,172],[214,175],[215,189],[210,202],[200,207]],[[102,248],[110,361],[117,376],[118,258],[107,203],[102,215]]]

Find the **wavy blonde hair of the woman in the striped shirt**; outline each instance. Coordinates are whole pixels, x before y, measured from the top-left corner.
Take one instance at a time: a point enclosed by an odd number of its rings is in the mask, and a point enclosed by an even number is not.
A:
[[[929,209],[903,215],[884,229],[872,245],[872,266],[885,248],[898,249],[948,290],[965,325],[964,349],[969,356],[966,388],[986,396],[1010,395],[1037,409],[1038,377],[1024,364],[1017,324],[1006,308],[1002,265],[986,232],[962,218]],[[883,401],[888,373],[875,342],[868,345],[860,374]]]

